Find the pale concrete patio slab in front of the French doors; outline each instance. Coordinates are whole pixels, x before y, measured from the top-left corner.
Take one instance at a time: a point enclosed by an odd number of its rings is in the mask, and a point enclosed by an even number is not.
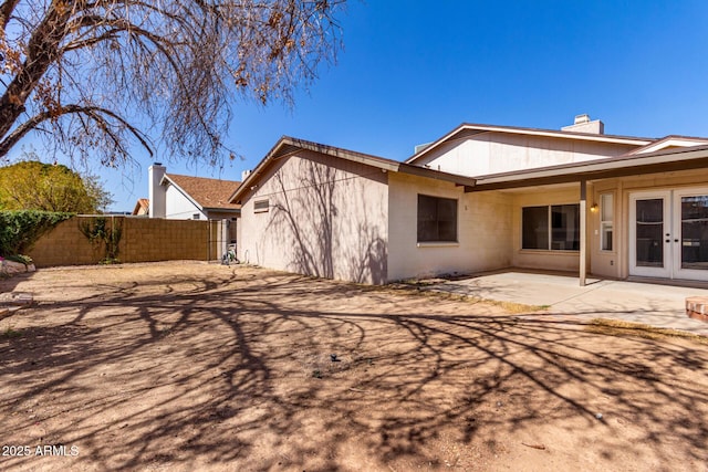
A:
[[[686,315],[686,298],[708,296],[707,289],[503,272],[429,285],[427,290],[459,293],[498,302],[541,305],[549,315],[577,321],[613,318],[708,336],[708,323]]]

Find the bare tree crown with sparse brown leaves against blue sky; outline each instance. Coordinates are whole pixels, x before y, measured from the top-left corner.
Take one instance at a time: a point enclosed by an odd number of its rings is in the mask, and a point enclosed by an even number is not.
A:
[[[291,105],[335,60],[343,4],[4,0],[0,158],[41,123],[48,148],[82,159],[115,165],[160,143],[219,162],[239,99]]]

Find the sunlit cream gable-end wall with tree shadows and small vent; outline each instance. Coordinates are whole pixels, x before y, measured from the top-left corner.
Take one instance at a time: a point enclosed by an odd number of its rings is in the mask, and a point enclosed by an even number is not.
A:
[[[243,262],[364,283],[387,280],[388,175],[312,151],[284,157],[243,196]],[[267,211],[254,209],[268,200]]]

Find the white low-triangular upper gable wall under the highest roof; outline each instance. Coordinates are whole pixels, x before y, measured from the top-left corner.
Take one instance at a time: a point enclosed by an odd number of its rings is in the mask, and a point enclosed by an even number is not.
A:
[[[636,146],[524,136],[504,133],[481,133],[452,140],[431,150],[416,161],[462,176],[485,176],[520,169],[581,162],[603,157],[620,156]]]

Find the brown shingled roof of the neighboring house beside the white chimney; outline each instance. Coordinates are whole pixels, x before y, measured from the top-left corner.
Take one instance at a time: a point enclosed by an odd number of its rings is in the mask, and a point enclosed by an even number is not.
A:
[[[236,180],[207,179],[204,177],[165,174],[162,185],[171,183],[202,210],[236,211],[240,204],[231,203],[229,197],[241,182]]]

